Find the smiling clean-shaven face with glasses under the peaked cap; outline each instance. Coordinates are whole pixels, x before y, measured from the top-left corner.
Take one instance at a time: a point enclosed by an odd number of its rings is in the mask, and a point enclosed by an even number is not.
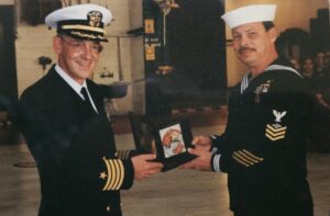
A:
[[[92,73],[101,50],[99,43],[69,36],[55,36],[53,47],[59,67],[80,84]]]

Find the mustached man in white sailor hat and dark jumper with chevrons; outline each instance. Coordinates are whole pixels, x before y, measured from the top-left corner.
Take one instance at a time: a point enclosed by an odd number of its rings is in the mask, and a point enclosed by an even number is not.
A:
[[[311,216],[306,135],[311,98],[305,80],[275,48],[276,5],[222,15],[238,58],[249,68],[229,99],[221,136],[196,136],[186,168],[228,173],[234,216]],[[221,214],[221,213],[219,213]]]

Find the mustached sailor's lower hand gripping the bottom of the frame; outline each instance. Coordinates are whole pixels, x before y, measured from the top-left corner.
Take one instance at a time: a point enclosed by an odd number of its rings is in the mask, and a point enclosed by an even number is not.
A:
[[[196,159],[185,163],[182,168],[186,169],[196,169],[196,170],[211,170],[211,157],[212,154],[205,148],[193,149],[188,148],[188,152],[195,156],[198,156]]]

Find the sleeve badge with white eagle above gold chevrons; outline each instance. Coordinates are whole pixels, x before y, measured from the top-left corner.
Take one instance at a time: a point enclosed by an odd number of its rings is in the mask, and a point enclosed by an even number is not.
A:
[[[280,120],[286,115],[286,111],[277,112],[276,110],[273,110],[273,114],[275,116],[275,123],[267,124],[265,136],[272,141],[276,141],[285,138],[287,127],[280,125]]]

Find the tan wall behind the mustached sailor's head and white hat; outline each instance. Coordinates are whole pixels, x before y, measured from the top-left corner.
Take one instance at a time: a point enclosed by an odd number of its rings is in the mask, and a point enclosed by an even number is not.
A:
[[[254,4],[275,3],[277,12],[275,25],[278,34],[288,27],[299,27],[309,32],[309,19],[317,16],[317,10],[329,8],[329,0],[226,0],[226,11]],[[227,39],[231,39],[231,31],[227,26]],[[228,86],[232,87],[241,80],[245,67],[237,59],[232,46],[227,46]]]

